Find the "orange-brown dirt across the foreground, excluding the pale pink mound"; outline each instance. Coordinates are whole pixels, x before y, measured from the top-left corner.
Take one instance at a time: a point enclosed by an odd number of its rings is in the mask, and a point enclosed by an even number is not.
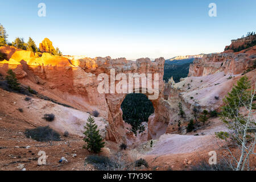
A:
[[[32,129],[23,119],[13,118],[8,114],[0,112],[0,170],[20,171],[26,168],[27,171],[59,171],[59,170],[96,170],[91,165],[84,165],[86,156],[90,153],[82,148],[84,141],[82,137],[69,136],[61,137],[60,142],[53,142],[52,146],[48,142],[36,142],[26,138],[24,131]],[[107,143],[106,146],[114,146]],[[115,150],[117,148],[114,148]],[[113,150],[113,148],[112,148]],[[46,165],[38,165],[39,151],[45,151],[47,155]],[[113,150],[114,151],[114,150]],[[125,151],[129,154],[129,151]],[[72,155],[76,154],[75,157]],[[103,149],[101,155],[109,155],[108,150]],[[138,155],[138,158],[147,160],[152,170],[184,169],[189,165],[191,159],[196,161],[196,152],[191,154],[174,155]],[[202,155],[205,155],[203,153]],[[60,164],[59,160],[64,157],[67,163]],[[198,156],[197,159],[200,157]],[[186,164],[189,163],[189,164]],[[18,168],[20,164],[22,168]]]

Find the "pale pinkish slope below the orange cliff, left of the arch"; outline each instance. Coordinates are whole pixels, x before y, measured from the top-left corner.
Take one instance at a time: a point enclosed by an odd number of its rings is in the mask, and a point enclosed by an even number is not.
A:
[[[7,114],[12,115],[12,117],[24,119],[27,123],[36,127],[49,125],[52,129],[59,131],[61,134],[68,131],[68,133],[72,135],[84,136],[84,126],[89,117],[88,113],[55,104],[51,101],[36,97],[27,97],[2,89],[0,89],[0,93],[0,108],[5,110]],[[30,100],[25,100],[25,98],[30,98]],[[22,112],[20,112],[19,109],[22,109]],[[51,113],[55,115],[54,122],[47,122],[43,119],[44,114]],[[95,118],[95,122],[98,125],[100,134],[105,138],[109,123],[101,117]]]

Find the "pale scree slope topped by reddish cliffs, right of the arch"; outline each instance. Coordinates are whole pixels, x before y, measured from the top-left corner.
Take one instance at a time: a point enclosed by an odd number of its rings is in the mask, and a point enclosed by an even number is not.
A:
[[[194,118],[193,107],[199,106],[200,111],[219,110],[223,105],[223,98],[243,75],[246,75],[254,84],[256,80],[255,60],[256,46],[236,53],[212,53],[202,58],[195,58],[193,64],[190,65],[187,78],[177,83],[170,80],[165,84],[164,98],[166,100],[162,102],[161,110],[169,122],[160,133],[185,134],[189,119]],[[185,118],[178,115],[179,102],[185,111]],[[178,130],[179,122],[180,130]],[[223,126],[217,128],[218,130],[224,129]],[[150,131],[151,128],[148,127],[148,129]]]

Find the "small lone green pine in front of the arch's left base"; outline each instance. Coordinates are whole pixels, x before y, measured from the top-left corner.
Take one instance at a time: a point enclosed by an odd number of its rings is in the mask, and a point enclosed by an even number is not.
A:
[[[99,130],[97,130],[97,125],[94,122],[92,115],[89,115],[86,126],[84,126],[86,131],[84,132],[85,137],[83,140],[86,142],[86,148],[89,151],[98,153],[104,147],[105,142],[103,142]]]

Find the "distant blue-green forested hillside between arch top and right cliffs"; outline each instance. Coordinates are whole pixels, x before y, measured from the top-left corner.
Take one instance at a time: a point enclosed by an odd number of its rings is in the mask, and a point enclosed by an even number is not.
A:
[[[164,63],[164,81],[168,82],[173,77],[175,82],[180,82],[180,78],[188,76],[189,65],[193,63],[195,58],[166,60]]]

